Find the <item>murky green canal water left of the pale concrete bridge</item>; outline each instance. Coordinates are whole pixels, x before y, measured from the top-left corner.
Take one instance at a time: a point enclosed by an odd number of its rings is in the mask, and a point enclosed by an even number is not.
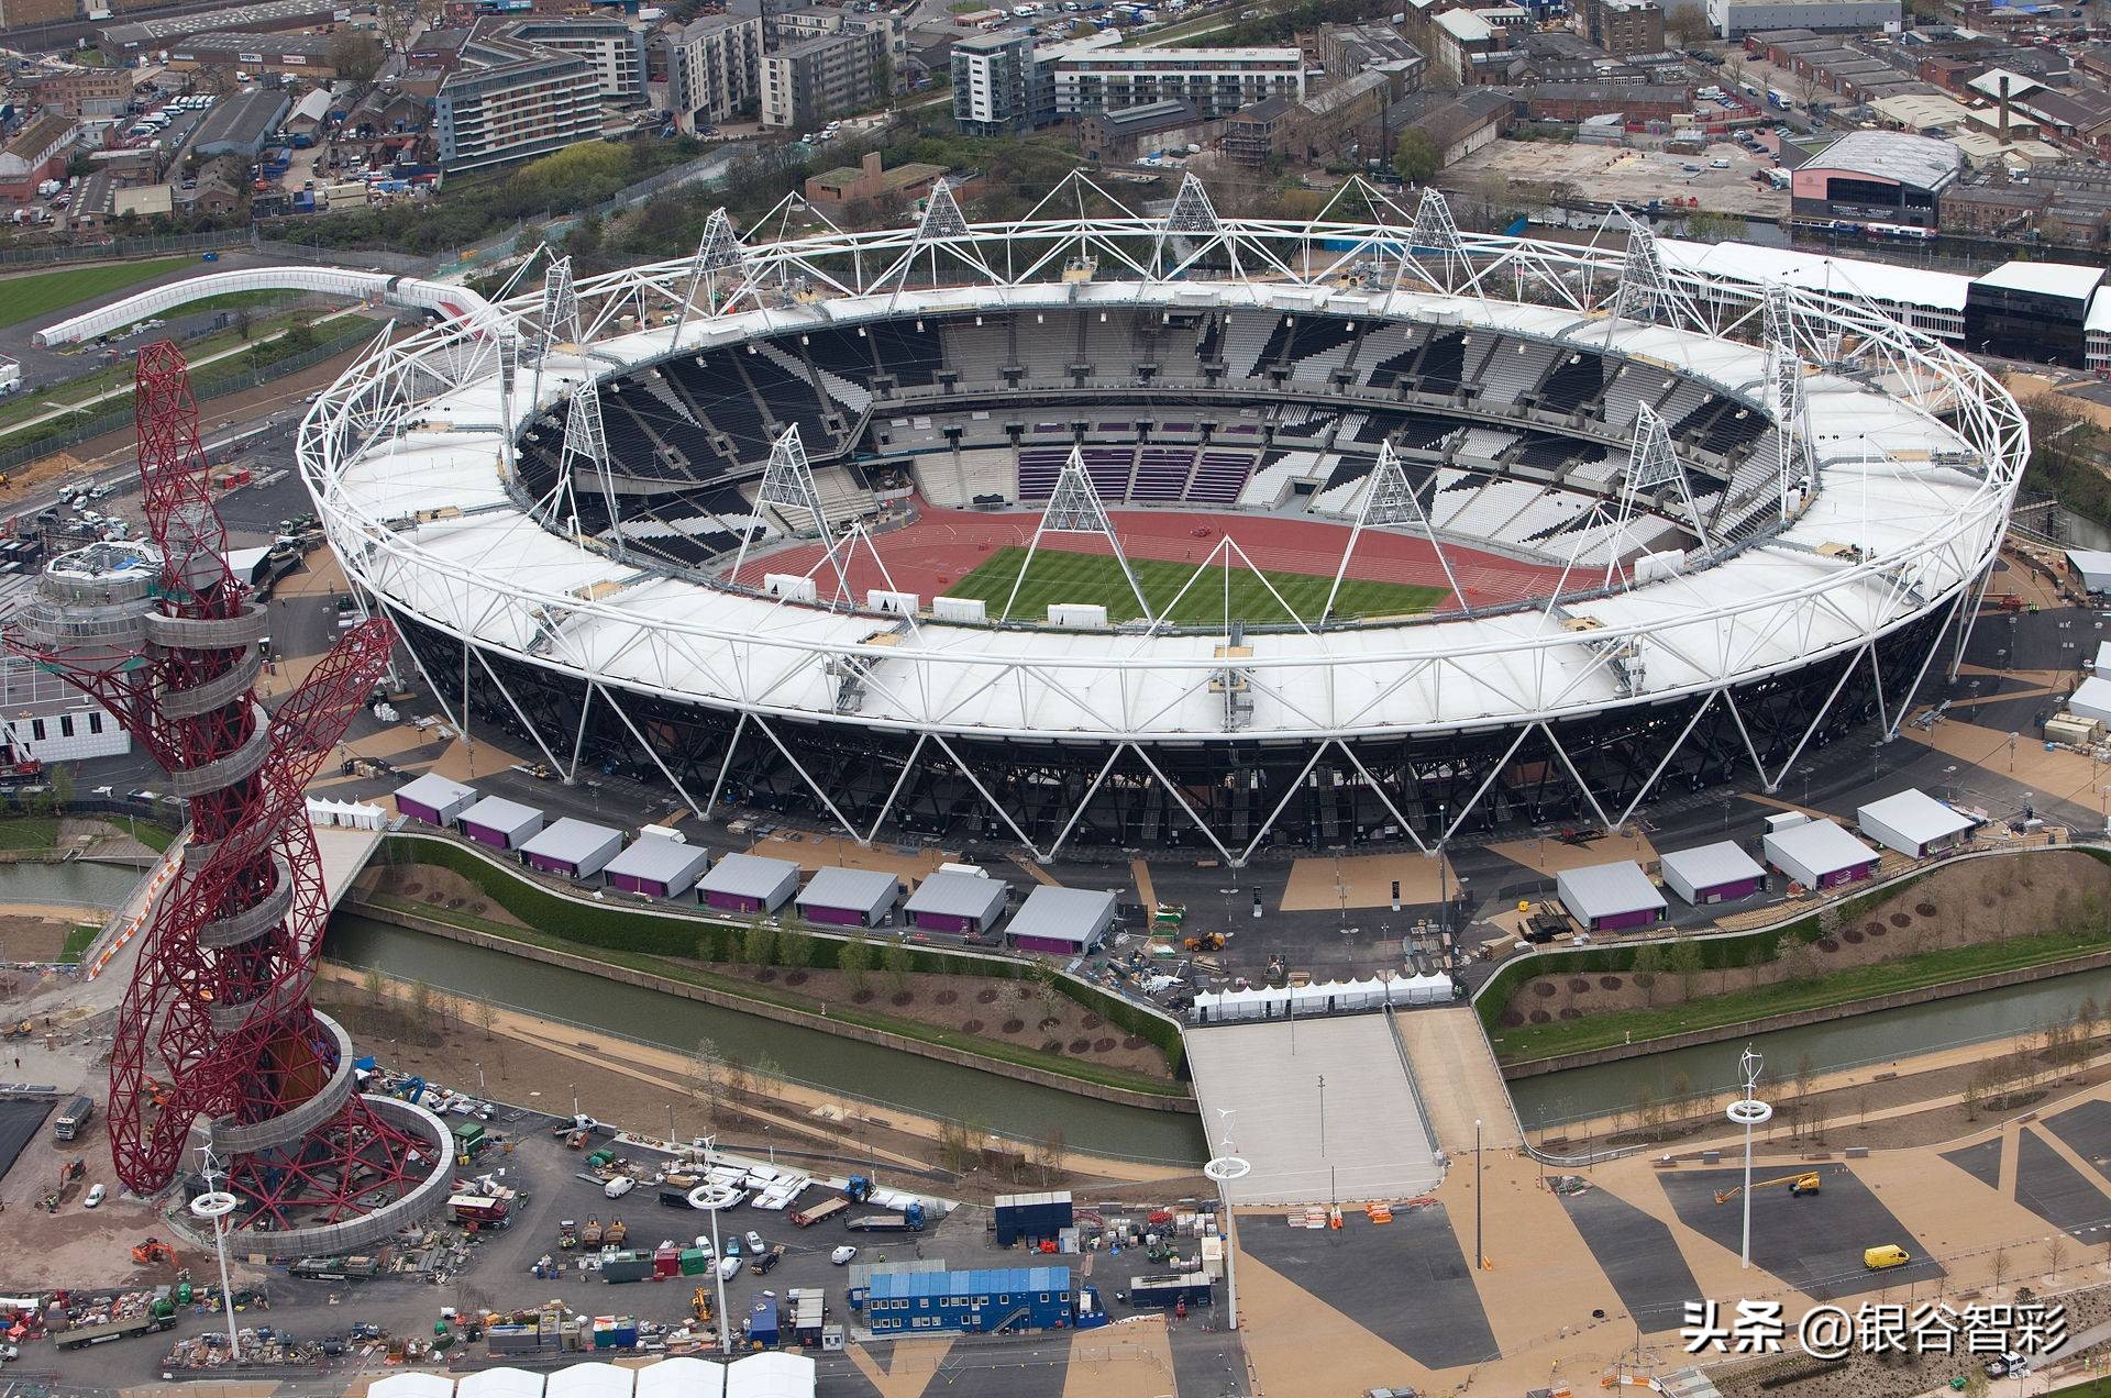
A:
[[[331,919],[323,955],[680,1054],[692,1052],[699,1039],[714,1039],[747,1062],[762,1056],[777,1060],[783,1077],[798,1083],[923,1117],[967,1121],[1018,1140],[1060,1128],[1070,1149],[1091,1155],[1176,1166],[1207,1159],[1201,1119],[1191,1113],[1102,1102],[363,917]]]

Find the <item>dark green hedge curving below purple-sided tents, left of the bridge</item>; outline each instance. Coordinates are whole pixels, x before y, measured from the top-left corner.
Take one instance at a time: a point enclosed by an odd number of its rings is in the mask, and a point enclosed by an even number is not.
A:
[[[382,840],[380,857],[384,864],[429,864],[458,874],[483,889],[492,902],[528,927],[536,927],[549,936],[564,938],[566,942],[576,942],[581,946],[733,965],[741,961],[741,944],[747,938],[747,925],[739,923],[728,925],[707,921],[703,917],[629,910],[623,906],[566,898],[441,836],[391,834]],[[783,933],[787,929],[777,927],[775,931]],[[851,942],[851,938],[815,927],[792,927],[790,931],[806,933],[813,946],[811,965],[823,971],[836,969],[842,948]],[[872,946],[874,955],[872,969],[878,971],[880,952],[899,944],[872,938],[868,946]],[[967,957],[931,946],[910,946],[910,969],[946,976],[982,976],[990,980],[1026,980],[1034,971],[1034,963],[1018,961],[1013,957]],[[1186,1045],[1180,1037],[1178,1024],[1142,1009],[1119,995],[1089,986],[1074,976],[1056,976],[1053,980],[1062,995],[1068,995],[1072,1001],[1091,1009],[1108,1024],[1138,1035],[1140,1039],[1148,1039],[1161,1054],[1165,1054],[1165,1064],[1172,1069],[1174,1077],[1182,1077],[1186,1073]]]

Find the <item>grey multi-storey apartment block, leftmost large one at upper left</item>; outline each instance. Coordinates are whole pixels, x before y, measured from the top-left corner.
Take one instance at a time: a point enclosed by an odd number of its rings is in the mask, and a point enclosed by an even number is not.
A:
[[[513,27],[471,38],[433,97],[443,169],[528,160],[602,133],[602,87],[587,61],[515,38]]]

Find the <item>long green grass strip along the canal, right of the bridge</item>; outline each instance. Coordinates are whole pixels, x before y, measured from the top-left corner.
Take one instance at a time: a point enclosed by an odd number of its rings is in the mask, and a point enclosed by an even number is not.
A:
[[[2077,938],[2071,931],[2041,931],[2005,942],[1951,946],[1919,957],[1828,971],[1822,980],[1777,982],[1750,990],[1729,990],[1725,995],[1706,993],[1712,971],[1704,971],[1699,997],[1691,1003],[1657,1005],[1655,1009],[1615,1009],[1587,1014],[1579,1020],[1554,1020],[1552,1024],[1505,1026],[1490,1031],[1490,1039],[1499,1060],[1530,1062],[1556,1054],[1579,1054],[1628,1041],[1640,1043],[1644,1039],[1682,1035],[1693,1028],[1744,1024],[1769,1014],[1845,1005],[1894,990],[1915,990],[1919,986],[1940,986],[1993,971],[2046,965],[2048,961],[2065,961],[2067,957],[2103,950],[2105,942],[2105,938]],[[1556,974],[1554,963],[1549,963],[1545,974]]]

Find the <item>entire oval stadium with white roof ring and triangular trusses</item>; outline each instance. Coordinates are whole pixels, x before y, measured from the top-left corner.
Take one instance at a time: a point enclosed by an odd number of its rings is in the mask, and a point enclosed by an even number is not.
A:
[[[543,260],[376,342],[300,469],[458,722],[859,840],[1613,826],[1953,669],[2029,450],[1980,365],[1638,226],[1343,209],[1074,177]]]

